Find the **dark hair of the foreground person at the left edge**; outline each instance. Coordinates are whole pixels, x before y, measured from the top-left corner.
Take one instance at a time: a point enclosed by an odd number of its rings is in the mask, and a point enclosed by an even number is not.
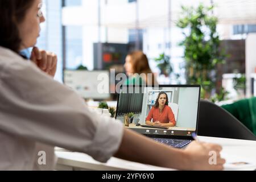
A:
[[[0,0],[0,46],[18,53],[22,40],[18,24],[35,0]]]

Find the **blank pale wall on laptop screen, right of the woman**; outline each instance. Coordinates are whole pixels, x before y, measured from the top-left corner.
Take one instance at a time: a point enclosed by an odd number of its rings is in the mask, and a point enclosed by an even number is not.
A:
[[[180,88],[177,127],[196,128],[199,88]]]

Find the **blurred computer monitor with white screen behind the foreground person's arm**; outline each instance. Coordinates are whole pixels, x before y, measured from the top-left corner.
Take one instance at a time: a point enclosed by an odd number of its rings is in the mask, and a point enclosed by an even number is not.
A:
[[[109,83],[109,71],[64,71],[64,84],[85,99],[109,99]]]

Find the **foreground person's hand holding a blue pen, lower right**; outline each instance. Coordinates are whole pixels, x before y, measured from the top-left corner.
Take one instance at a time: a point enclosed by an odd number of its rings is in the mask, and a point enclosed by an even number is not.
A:
[[[192,142],[184,150],[188,157],[184,166],[189,170],[223,170],[226,161],[220,156],[221,150],[218,144]]]

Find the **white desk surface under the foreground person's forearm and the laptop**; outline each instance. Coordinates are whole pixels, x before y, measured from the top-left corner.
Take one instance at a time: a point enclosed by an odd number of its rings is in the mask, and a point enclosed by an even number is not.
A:
[[[232,162],[235,158],[246,159],[250,163],[256,164],[256,141],[224,139],[212,137],[199,137],[203,142],[221,144],[223,151],[222,156],[225,156],[227,163]],[[135,171],[164,171],[173,170],[168,168],[161,168],[149,166],[140,163],[129,162],[117,158],[111,158],[108,163],[100,163],[92,159],[86,154],[56,151],[57,170],[106,170],[106,171],[120,171],[120,170],[135,170]],[[240,161],[245,162],[245,161]],[[226,170],[231,170],[230,166],[225,166]],[[243,168],[243,170],[254,170],[255,167]]]

